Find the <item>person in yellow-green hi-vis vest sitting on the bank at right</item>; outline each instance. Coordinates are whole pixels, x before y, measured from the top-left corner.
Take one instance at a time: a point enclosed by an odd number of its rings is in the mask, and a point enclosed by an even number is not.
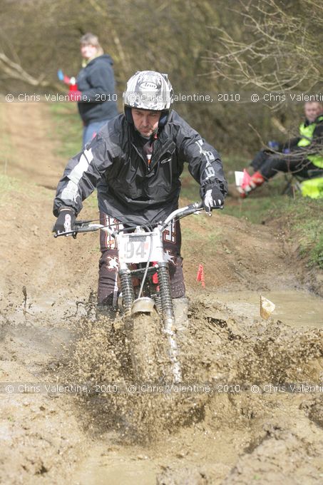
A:
[[[278,172],[295,173],[309,179],[310,170],[312,173],[322,170],[323,176],[323,106],[316,101],[307,102],[304,112],[305,121],[299,126],[299,137],[284,145],[277,144],[272,147],[274,152],[257,153],[251,163],[255,173],[243,189],[238,188],[242,198]]]

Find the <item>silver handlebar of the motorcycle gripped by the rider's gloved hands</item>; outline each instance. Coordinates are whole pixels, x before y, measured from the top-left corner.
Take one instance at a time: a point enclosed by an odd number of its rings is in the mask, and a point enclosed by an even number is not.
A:
[[[221,207],[222,208],[222,207]],[[181,218],[186,217],[187,215],[194,214],[200,212],[203,209],[203,203],[200,200],[199,202],[195,202],[190,205],[186,205],[183,208],[173,210],[170,215],[165,219],[164,222],[160,222],[161,230],[165,230],[171,220],[178,220]],[[58,236],[67,236],[73,235],[76,237],[78,233],[92,233],[93,231],[104,229],[110,235],[113,235],[114,230],[111,225],[103,225],[103,224],[92,224],[92,220],[76,220],[74,224],[73,230],[66,231],[64,233],[54,234],[54,238],[58,238]]]

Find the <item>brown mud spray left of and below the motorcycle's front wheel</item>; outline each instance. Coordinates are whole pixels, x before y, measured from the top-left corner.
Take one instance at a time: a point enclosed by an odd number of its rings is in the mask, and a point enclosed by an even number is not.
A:
[[[130,358],[131,342],[121,318],[92,321],[85,317],[79,330],[80,338],[72,352],[67,349],[66,365],[55,377],[86,382],[93,389],[90,396],[80,397],[80,412],[84,409],[88,419],[88,424],[83,419],[85,429],[91,426],[98,434],[112,429],[118,431],[124,444],[149,444],[203,419],[204,396],[166,392],[165,385],[172,383],[163,373],[154,382],[138,382]],[[113,386],[116,392],[110,390]],[[160,387],[163,391],[156,390]]]

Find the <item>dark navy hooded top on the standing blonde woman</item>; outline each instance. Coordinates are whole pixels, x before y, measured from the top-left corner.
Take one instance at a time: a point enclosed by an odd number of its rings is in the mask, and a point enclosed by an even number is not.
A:
[[[113,61],[108,54],[98,56],[83,68],[76,78],[82,99],[78,111],[85,125],[118,115]],[[114,101],[113,101],[114,100]]]

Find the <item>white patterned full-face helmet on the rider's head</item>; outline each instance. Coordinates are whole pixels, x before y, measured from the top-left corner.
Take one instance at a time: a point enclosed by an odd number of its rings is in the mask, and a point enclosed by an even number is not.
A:
[[[125,117],[133,123],[130,108],[163,111],[159,127],[164,126],[173,104],[173,88],[167,74],[156,71],[137,71],[130,77],[123,93]]]

